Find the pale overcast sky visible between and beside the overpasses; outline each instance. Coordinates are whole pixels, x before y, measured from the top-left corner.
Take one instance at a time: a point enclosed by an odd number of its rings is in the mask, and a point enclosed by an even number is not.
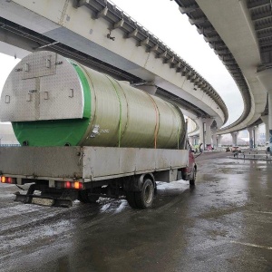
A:
[[[243,102],[232,77],[219,57],[181,15],[179,5],[170,0],[113,0],[126,14],[134,18],[152,34],[179,54],[219,92],[228,107],[228,122],[236,121],[243,112]],[[18,59],[0,53],[0,90]]]

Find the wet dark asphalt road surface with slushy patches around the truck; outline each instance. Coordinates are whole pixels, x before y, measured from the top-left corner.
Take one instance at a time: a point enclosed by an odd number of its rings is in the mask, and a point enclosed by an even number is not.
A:
[[[126,200],[48,208],[0,184],[0,271],[272,271],[272,162],[205,153],[197,186],[159,183]]]

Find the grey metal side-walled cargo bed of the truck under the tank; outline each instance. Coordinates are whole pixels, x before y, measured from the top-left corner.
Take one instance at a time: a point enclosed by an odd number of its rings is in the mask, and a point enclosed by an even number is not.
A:
[[[186,167],[188,152],[88,146],[1,147],[0,173],[36,180],[108,180]]]

